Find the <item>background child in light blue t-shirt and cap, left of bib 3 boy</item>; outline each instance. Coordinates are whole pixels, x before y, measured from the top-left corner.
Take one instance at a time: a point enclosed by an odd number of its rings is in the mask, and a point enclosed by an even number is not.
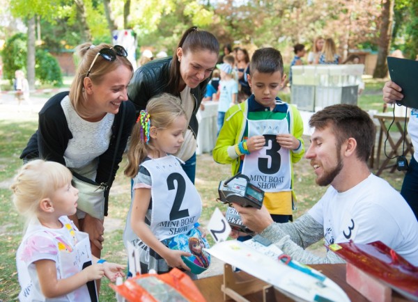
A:
[[[219,81],[219,104],[217,116],[217,135],[224,125],[225,112],[229,107],[237,104],[238,82],[233,79],[232,67],[228,63],[217,65],[221,71],[221,81]]]

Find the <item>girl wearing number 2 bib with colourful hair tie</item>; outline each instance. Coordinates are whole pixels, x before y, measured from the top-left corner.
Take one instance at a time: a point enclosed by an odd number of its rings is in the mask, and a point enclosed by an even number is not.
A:
[[[134,185],[123,241],[140,249],[142,273],[190,271],[181,256],[191,254],[167,247],[167,239],[200,228],[201,198],[183,162],[171,155],[180,149],[186,129],[180,99],[165,93],[148,102],[132,130],[125,175]]]

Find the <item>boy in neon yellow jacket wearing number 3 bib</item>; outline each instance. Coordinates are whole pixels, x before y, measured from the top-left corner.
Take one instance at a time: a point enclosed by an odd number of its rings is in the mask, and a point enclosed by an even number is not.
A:
[[[213,159],[231,164],[232,175],[241,172],[263,189],[273,220],[285,223],[295,201],[292,165],[304,154],[303,122],[295,106],[277,97],[286,79],[280,51],[257,49],[249,70],[253,94],[226,112]]]

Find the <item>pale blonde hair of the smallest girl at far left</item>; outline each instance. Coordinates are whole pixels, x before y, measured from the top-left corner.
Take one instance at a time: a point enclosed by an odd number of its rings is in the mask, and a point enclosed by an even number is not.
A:
[[[22,166],[10,186],[17,212],[29,221],[38,214],[40,200],[50,198],[57,189],[69,184],[71,180],[70,170],[55,161],[29,161]]]

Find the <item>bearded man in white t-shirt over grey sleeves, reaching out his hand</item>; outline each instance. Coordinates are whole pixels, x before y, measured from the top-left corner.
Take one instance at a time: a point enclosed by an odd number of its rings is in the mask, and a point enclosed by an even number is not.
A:
[[[304,251],[325,238],[326,245],[382,241],[418,266],[415,215],[401,194],[367,166],[376,136],[369,114],[357,106],[336,104],[315,113],[309,126],[315,131],[306,157],[316,183],[330,184],[324,196],[295,222],[282,224],[274,223],[265,207],[234,204],[242,222],[303,263],[343,262],[332,252],[319,257]]]

